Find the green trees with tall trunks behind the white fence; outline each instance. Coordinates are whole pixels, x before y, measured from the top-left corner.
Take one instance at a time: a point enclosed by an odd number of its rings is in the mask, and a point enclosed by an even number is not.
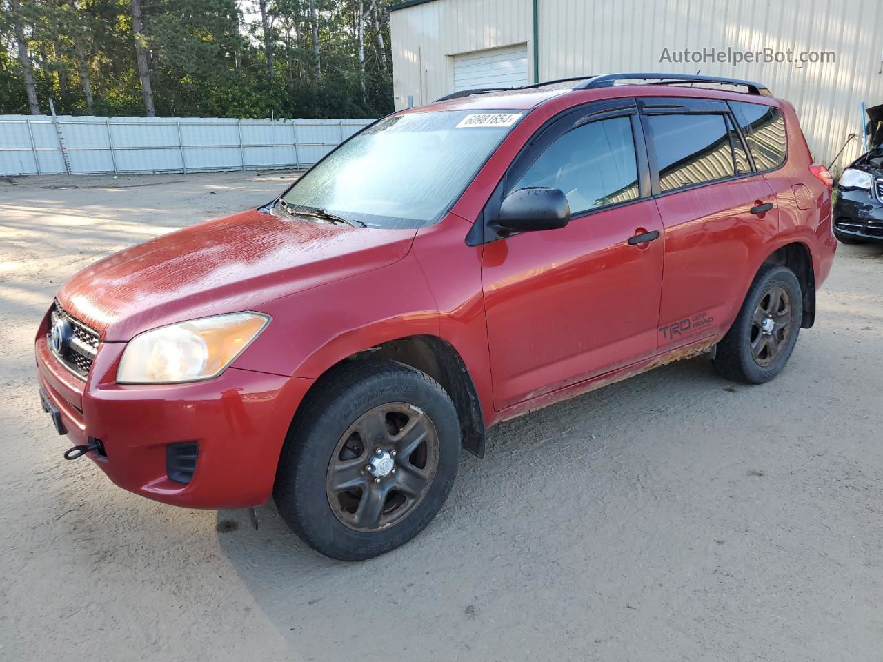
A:
[[[0,114],[379,117],[393,0],[0,0]]]

